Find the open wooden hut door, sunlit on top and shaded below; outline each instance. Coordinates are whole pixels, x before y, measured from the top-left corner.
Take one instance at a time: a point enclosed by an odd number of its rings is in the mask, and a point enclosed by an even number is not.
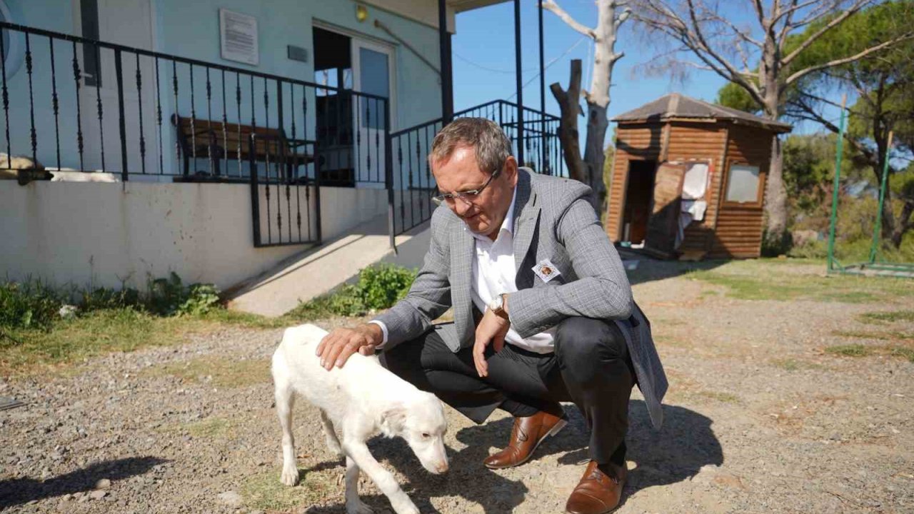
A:
[[[657,167],[654,207],[651,209],[651,219],[647,221],[645,250],[663,257],[673,255],[684,177],[685,166],[681,164],[664,163]]]

